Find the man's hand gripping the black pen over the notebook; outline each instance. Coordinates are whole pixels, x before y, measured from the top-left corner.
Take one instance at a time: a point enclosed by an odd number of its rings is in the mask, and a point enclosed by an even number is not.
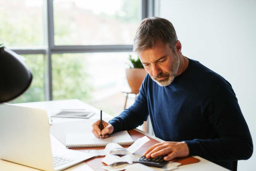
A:
[[[102,127],[103,129],[100,131],[100,120],[97,120],[94,124],[92,124],[92,133],[97,138],[107,138],[108,134],[111,134],[114,131],[114,127],[108,123],[102,120]]]

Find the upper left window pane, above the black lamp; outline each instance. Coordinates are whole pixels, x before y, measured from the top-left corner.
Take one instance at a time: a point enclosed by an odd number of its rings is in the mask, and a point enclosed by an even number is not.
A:
[[[43,46],[43,0],[1,0],[0,21],[5,46]]]

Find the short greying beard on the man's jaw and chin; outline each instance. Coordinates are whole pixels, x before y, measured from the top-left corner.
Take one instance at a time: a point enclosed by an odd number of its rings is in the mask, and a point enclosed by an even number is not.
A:
[[[172,70],[171,72],[168,72],[168,73],[160,73],[159,75],[157,76],[153,76],[151,77],[151,79],[153,81],[155,81],[159,86],[168,86],[172,83],[172,81],[174,80],[174,78],[177,76],[178,74],[178,70],[179,70],[179,67],[180,67],[180,58],[178,55],[174,55],[174,58],[175,58],[175,61],[173,63],[173,66],[172,66]],[[166,76],[166,78],[164,80],[157,80],[157,78],[162,78]]]

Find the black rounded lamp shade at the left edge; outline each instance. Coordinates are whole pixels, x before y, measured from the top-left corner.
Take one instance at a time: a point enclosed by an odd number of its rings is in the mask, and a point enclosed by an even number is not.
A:
[[[20,96],[32,81],[32,73],[22,58],[0,46],[0,103]]]

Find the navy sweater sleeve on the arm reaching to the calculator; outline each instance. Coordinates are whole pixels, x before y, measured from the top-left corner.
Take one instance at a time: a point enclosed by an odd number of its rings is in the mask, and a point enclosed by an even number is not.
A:
[[[252,156],[252,137],[228,82],[218,85],[211,100],[204,102],[203,115],[213,126],[218,138],[184,141],[189,155],[212,161],[236,161]]]

